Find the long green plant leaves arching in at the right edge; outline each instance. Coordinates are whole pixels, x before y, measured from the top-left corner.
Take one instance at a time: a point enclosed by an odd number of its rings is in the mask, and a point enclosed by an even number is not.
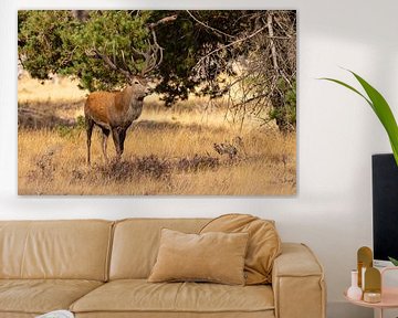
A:
[[[342,81],[338,81],[335,78],[328,78],[328,77],[323,77],[320,80],[326,80],[326,81],[337,83],[337,84],[355,92],[363,98],[365,98],[365,100],[370,105],[371,109],[375,112],[376,116],[379,118],[381,125],[386,129],[386,132],[387,132],[388,138],[391,144],[394,158],[398,166],[398,126],[397,126],[397,121],[394,117],[394,114],[391,112],[391,108],[389,107],[388,103],[383,97],[383,95],[376,88],[374,88],[369,83],[367,83],[359,75],[355,74],[354,72],[352,72],[349,70],[347,70],[347,71],[349,73],[352,73],[355,76],[355,78],[359,82],[362,87],[365,89],[367,96],[365,96],[359,91],[357,91],[353,86],[350,86]]]

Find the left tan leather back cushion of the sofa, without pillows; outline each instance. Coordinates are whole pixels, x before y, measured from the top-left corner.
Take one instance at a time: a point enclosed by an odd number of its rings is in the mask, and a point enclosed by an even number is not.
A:
[[[113,222],[0,221],[1,278],[106,280]]]

